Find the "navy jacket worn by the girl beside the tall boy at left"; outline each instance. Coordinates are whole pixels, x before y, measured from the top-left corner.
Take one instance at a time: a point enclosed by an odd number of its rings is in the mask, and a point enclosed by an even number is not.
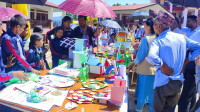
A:
[[[34,46],[30,47],[28,52],[26,53],[26,60],[36,70],[41,70],[41,65],[39,65],[39,61],[41,58],[42,48],[38,48],[38,51]]]

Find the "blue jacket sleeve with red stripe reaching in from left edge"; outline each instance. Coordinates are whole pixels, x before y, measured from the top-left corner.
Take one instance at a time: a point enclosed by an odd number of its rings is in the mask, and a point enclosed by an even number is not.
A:
[[[5,66],[3,64],[1,47],[0,47],[0,89],[3,87],[6,81],[12,79],[13,77],[14,77],[13,73],[5,73]]]

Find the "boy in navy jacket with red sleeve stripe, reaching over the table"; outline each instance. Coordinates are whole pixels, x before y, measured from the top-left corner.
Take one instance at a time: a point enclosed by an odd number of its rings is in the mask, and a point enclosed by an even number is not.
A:
[[[4,64],[7,63],[7,57],[13,54],[16,59],[12,67],[6,68],[6,72],[10,71],[31,71],[40,74],[40,71],[33,69],[26,61],[25,51],[22,44],[22,39],[19,36],[24,31],[26,19],[21,15],[15,15],[10,19],[10,28],[2,37],[2,57]]]

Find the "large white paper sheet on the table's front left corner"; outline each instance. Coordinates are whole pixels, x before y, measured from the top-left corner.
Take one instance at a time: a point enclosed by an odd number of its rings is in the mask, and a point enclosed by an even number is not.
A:
[[[26,107],[36,108],[39,110],[49,111],[54,105],[62,106],[68,91],[60,91],[62,95],[53,96],[50,93],[46,94],[47,101],[41,103],[29,103],[26,101],[27,94],[19,90],[14,90],[17,84],[6,87],[0,91],[0,100],[16,103]],[[56,89],[52,88],[52,91]]]

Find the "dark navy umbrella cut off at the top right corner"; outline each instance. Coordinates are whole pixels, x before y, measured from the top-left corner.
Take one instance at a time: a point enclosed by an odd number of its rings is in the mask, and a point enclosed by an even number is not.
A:
[[[200,7],[200,0],[169,0],[176,5],[182,5],[184,7]]]

